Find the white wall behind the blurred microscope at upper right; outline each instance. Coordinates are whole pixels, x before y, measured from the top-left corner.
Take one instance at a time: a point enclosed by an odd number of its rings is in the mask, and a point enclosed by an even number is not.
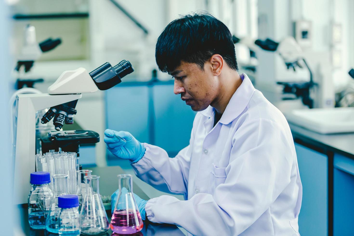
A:
[[[259,37],[270,37],[281,40],[285,36],[292,36],[292,23],[296,20],[312,22],[313,41],[311,48],[304,48],[307,53],[328,53],[331,58],[331,24],[342,24],[342,43],[336,46],[341,49],[341,67],[332,70],[332,80],[336,88],[346,85],[349,81],[348,71],[354,54],[353,36],[353,1],[351,0],[263,0],[258,2]],[[352,18],[351,18],[352,17]],[[351,29],[350,29],[351,28]],[[278,62],[277,62],[278,61]],[[264,64],[267,62],[268,64]],[[285,71],[278,56],[267,52],[259,53],[259,79],[261,81],[275,80],[289,77],[308,77],[307,73],[293,73]],[[310,62],[311,63],[311,62]],[[263,64],[263,65],[262,65]],[[264,73],[265,72],[265,73]],[[270,75],[267,79],[267,75]],[[295,77],[294,77],[295,76]]]

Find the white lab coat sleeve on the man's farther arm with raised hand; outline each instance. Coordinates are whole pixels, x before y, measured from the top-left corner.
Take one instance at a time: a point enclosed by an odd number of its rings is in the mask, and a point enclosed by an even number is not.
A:
[[[179,151],[174,158],[170,158],[167,152],[158,146],[143,143],[145,155],[138,162],[131,164],[136,176],[160,191],[184,194],[187,199],[193,142],[194,128],[189,145]]]

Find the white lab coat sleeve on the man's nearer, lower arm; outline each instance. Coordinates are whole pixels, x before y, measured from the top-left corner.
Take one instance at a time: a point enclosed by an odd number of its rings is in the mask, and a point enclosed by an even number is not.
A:
[[[214,194],[187,201],[173,196],[150,199],[147,217],[176,224],[193,235],[239,235],[252,225],[290,183],[293,151],[276,123],[256,119],[234,134],[227,177]]]

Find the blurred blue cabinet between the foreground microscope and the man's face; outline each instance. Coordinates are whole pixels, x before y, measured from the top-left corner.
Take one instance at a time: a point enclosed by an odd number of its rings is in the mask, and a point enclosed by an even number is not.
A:
[[[107,128],[128,131],[171,157],[189,144],[196,113],[173,93],[172,82],[122,83],[105,96]]]

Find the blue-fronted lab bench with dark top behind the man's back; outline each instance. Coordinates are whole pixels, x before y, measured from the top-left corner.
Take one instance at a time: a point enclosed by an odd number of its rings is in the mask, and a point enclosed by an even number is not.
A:
[[[301,235],[354,235],[354,134],[289,124],[303,186]]]

